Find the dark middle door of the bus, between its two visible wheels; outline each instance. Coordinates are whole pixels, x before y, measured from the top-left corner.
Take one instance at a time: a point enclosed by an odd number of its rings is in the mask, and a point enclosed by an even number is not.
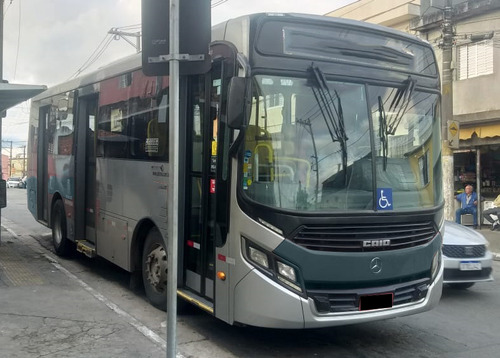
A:
[[[97,96],[80,97],[75,165],[75,231],[76,239],[95,243],[96,224],[96,157],[95,124]]]

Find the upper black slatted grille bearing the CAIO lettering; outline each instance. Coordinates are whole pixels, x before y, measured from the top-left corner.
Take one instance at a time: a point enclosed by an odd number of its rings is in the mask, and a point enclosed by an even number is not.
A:
[[[303,226],[292,242],[315,251],[372,252],[424,245],[436,236],[431,221]]]

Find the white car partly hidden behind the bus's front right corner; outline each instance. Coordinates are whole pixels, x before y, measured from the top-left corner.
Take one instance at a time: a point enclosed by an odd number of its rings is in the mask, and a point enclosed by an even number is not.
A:
[[[478,231],[445,221],[443,239],[444,283],[467,289],[476,282],[493,281],[493,255]]]

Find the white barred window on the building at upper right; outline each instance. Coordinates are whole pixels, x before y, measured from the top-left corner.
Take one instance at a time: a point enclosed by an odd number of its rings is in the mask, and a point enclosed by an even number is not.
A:
[[[458,79],[493,73],[493,40],[475,42],[457,48]]]

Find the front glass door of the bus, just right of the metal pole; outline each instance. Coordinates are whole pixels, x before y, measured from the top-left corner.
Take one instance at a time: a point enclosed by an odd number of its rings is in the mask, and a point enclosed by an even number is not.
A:
[[[217,209],[229,205],[218,202],[218,190],[227,187],[220,180],[219,164],[224,132],[220,121],[221,99],[226,92],[224,84],[228,82],[224,78],[225,68],[228,66],[224,61],[215,61],[209,75],[192,80],[191,110],[187,116],[184,286],[208,301],[214,299],[215,245],[221,221]]]

